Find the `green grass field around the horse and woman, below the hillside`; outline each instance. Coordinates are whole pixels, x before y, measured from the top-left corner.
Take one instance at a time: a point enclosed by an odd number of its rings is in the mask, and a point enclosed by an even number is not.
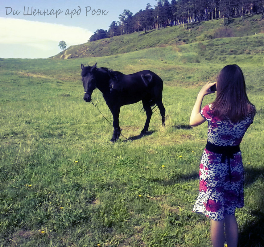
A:
[[[226,64],[242,68],[257,108],[241,143],[240,246],[264,246],[262,39],[212,39],[100,58],[1,60],[0,246],[211,246],[209,220],[192,213],[207,125],[188,123],[201,85]],[[157,73],[166,126],[156,111],[140,138],[142,105],[124,106],[123,136],[112,144],[113,127],[98,112],[112,121],[101,93],[92,95],[98,109],[83,101],[80,64],[96,62],[127,74]],[[213,99],[208,95],[203,104]]]

